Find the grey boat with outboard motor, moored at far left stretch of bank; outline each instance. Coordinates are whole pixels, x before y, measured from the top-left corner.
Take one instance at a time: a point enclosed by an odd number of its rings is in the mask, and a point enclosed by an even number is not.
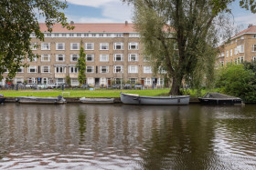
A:
[[[66,99],[59,95],[58,97],[35,97],[21,96],[16,98],[20,104],[66,104]]]

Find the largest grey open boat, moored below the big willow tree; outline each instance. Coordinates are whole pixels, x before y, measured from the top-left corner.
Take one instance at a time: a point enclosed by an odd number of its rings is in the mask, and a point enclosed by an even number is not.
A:
[[[189,95],[144,96],[121,93],[123,104],[130,105],[188,105]]]

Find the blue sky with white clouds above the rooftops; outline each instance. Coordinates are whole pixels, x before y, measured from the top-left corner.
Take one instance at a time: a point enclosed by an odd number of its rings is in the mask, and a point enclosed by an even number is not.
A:
[[[132,22],[133,9],[121,0],[67,0],[69,8],[64,13],[75,23]],[[231,5],[236,25],[256,25],[256,15],[241,9],[239,1]]]

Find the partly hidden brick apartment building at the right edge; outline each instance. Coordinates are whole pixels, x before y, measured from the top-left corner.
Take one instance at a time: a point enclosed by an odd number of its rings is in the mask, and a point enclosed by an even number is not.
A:
[[[233,36],[229,43],[219,47],[217,67],[240,64],[243,61],[256,61],[256,25],[249,25],[247,29]]]

